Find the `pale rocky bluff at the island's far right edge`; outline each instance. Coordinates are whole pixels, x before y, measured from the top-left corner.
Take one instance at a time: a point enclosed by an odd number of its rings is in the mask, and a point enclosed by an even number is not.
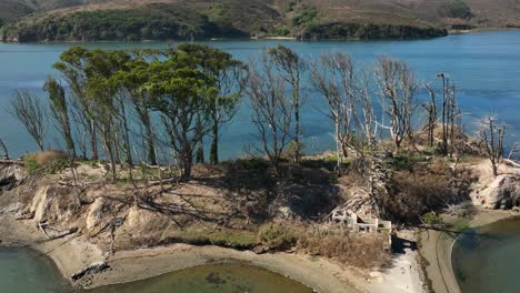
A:
[[[472,196],[473,203],[486,209],[509,210],[519,205],[520,174],[499,175],[482,192]]]

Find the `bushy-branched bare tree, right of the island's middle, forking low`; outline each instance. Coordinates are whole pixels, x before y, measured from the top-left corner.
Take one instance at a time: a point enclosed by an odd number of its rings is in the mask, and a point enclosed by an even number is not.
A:
[[[417,81],[408,64],[380,55],[374,67],[376,80],[381,94],[381,108],[390,125],[380,125],[390,131],[396,152],[408,138],[413,143],[412,118],[417,110]],[[381,121],[382,122],[382,121]]]

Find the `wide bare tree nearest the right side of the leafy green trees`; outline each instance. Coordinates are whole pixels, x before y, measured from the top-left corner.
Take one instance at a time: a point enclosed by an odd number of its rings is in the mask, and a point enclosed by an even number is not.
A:
[[[283,78],[274,71],[266,53],[251,62],[246,92],[251,103],[257,138],[262,145],[259,150],[269,158],[276,174],[280,174],[280,159],[292,137],[294,104],[286,94],[284,85]]]

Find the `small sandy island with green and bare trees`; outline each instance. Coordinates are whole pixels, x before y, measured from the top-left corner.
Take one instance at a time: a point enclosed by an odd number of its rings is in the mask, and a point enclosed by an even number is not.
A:
[[[74,286],[247,263],[318,292],[452,292],[446,235],[519,204],[507,125],[486,115],[468,133],[448,74],[422,87],[387,55],[362,68],[283,46],[250,62],[194,43],[73,47],[54,69],[46,102],[20,90],[9,109],[40,150],[12,160],[0,137],[0,240],[50,256]],[[301,139],[309,88],[330,152]],[[222,161],[240,104],[254,143]]]

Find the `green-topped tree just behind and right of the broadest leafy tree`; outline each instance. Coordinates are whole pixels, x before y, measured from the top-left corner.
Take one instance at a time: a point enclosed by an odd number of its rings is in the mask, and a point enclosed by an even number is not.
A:
[[[219,162],[219,137],[223,124],[229,123],[242,97],[247,67],[228,52],[203,44],[183,43],[177,47],[187,53],[217,91],[210,97],[211,149],[210,162]],[[200,124],[200,120],[198,121]],[[201,145],[201,143],[199,144]],[[199,154],[200,155],[200,154]]]

